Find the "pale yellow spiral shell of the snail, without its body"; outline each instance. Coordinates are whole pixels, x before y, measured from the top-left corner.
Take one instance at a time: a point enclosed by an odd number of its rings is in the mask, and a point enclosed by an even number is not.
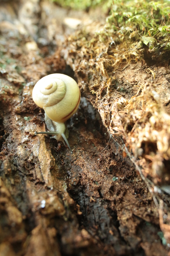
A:
[[[51,120],[60,123],[76,112],[80,96],[76,81],[64,74],[50,74],[41,78],[32,92],[33,101],[44,109]]]

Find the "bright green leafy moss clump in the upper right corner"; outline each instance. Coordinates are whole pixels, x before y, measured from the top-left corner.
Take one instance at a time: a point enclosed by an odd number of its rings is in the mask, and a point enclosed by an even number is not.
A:
[[[106,30],[116,34],[121,41],[139,42],[155,51],[170,36],[170,7],[160,1],[113,2]],[[164,48],[169,50],[169,45]]]

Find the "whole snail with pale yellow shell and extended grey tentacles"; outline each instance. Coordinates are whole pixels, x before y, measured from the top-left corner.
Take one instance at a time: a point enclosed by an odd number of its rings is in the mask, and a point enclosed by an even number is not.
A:
[[[34,86],[32,98],[35,104],[45,111],[45,123],[49,132],[35,132],[36,134],[55,135],[57,141],[68,143],[68,129],[65,125],[78,109],[80,104],[80,89],[76,81],[64,74],[50,74],[41,78]]]

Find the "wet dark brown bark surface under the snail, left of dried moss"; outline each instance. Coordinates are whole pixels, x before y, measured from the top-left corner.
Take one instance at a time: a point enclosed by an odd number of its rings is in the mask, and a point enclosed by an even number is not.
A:
[[[104,24],[99,10],[1,3],[0,254],[169,255],[152,196],[123,155],[123,140],[112,140],[103,126],[94,95],[81,88],[80,107],[67,122],[73,154],[34,135],[46,130],[44,111],[32,100],[35,83],[55,72],[74,77],[59,50],[75,31],[64,18],[75,13],[87,31]],[[127,75],[132,81],[133,72]]]

